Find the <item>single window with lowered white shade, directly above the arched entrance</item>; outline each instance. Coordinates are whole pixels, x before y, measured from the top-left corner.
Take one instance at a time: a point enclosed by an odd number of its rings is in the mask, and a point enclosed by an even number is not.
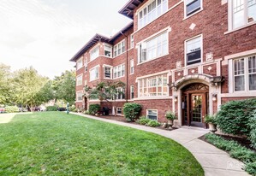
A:
[[[187,65],[201,62],[201,36],[186,41]]]

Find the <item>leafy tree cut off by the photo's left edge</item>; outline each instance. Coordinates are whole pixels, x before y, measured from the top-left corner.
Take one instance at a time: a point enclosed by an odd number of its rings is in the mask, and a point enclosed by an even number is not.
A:
[[[10,67],[0,63],[0,104],[11,101]]]

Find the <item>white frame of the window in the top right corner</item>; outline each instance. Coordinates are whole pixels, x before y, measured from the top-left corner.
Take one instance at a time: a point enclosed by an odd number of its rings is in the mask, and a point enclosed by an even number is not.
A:
[[[244,2],[244,18],[243,18],[243,21],[244,21],[244,24],[241,25],[241,26],[234,26],[234,13],[233,13],[233,3],[234,3],[234,0],[229,0],[229,31],[235,31],[235,30],[239,30],[245,26],[250,26],[250,25],[253,25],[256,23],[256,19],[254,21],[250,21],[248,22],[248,4],[247,4],[247,0],[243,0]]]

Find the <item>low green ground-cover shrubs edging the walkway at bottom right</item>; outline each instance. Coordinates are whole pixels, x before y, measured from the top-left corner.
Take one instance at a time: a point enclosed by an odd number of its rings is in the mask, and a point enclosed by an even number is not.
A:
[[[229,155],[245,163],[247,173],[256,175],[256,153],[246,147],[237,144],[235,141],[228,141],[215,134],[206,134],[206,140],[221,150],[226,150]]]

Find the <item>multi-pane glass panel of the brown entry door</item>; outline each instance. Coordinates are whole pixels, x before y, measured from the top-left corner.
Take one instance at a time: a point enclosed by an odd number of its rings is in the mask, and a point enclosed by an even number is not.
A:
[[[202,96],[192,95],[192,121],[202,122]]]

